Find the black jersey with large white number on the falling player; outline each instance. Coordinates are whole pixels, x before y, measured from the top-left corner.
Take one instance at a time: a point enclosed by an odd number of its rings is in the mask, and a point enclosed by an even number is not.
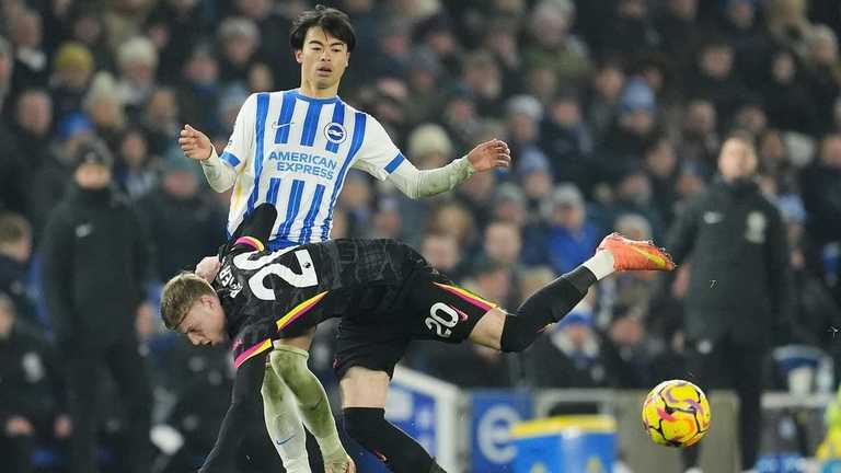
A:
[[[393,240],[334,240],[269,252],[240,236],[214,280],[237,367],[276,338],[333,316],[381,314],[423,258]]]

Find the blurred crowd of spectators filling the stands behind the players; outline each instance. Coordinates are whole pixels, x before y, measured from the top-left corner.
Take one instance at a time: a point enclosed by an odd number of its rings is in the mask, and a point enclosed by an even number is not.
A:
[[[841,328],[836,0],[323,3],[346,11],[358,35],[339,94],[376,116],[416,166],[438,168],[493,137],[514,158],[510,171],[423,200],[349,173],[333,238],[406,241],[466,288],[516,308],[612,231],[665,241],[715,178],[724,137],[740,129],[756,140],[761,188],[787,229],[796,300],[775,345],[817,349],[841,371],[832,333]],[[298,86],[287,35],[313,4],[0,0],[7,438],[60,445],[72,428],[54,349],[60,335],[39,296],[49,264],[41,250],[95,139],[108,154],[99,158],[108,186],[137,216],[147,246],[138,278],[149,303],[114,316],[127,318],[142,344],[153,423],[186,438],[191,455],[209,449],[227,404],[227,355],[163,334],[154,293],[216,252],[230,195],[207,186],[176,136],[191,124],[221,149],[250,93]],[[681,377],[687,279],[686,270],[607,279],[520,358],[417,344],[406,362],[466,388],[647,389]],[[312,357],[325,384],[334,382],[331,332],[320,331]],[[785,389],[770,372],[770,387]],[[120,430],[118,408],[103,417],[104,432]],[[172,446],[159,437],[159,447]],[[185,450],[177,447],[168,453]],[[56,449],[35,450],[42,465]]]

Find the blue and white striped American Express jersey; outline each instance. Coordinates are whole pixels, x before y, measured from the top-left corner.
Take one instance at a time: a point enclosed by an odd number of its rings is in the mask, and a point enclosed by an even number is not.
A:
[[[270,203],[278,212],[272,249],[330,238],[349,168],[382,181],[405,161],[377,119],[338,96],[314,99],[297,89],[249,96],[219,158],[237,172],[228,232]]]

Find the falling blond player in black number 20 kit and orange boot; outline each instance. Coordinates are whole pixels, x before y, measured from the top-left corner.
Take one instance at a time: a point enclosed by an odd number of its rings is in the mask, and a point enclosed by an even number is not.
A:
[[[233,341],[234,399],[214,451],[234,447],[231,432],[241,422],[235,411],[256,402],[261,385],[264,402],[273,402],[266,397],[270,378],[264,381],[264,372],[283,368],[275,357],[290,349],[288,341],[302,343],[319,323],[342,318],[335,370],[348,435],[395,473],[443,472],[423,447],[384,418],[394,366],[411,341],[470,339],[521,351],[599,279],[617,270],[675,268],[653,243],[614,233],[590,259],[509,313],[454,286],[420,254],[394,240],[343,239],[266,251],[276,217],[273,206],[261,205],[243,221],[220,252],[218,275],[206,272],[212,284],[184,273],[163,288],[161,315],[168,327],[196,345]],[[298,395],[298,381],[284,381]]]

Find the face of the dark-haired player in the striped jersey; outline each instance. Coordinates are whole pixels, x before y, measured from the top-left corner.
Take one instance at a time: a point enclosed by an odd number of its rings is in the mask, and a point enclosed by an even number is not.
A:
[[[336,86],[347,69],[350,53],[347,45],[321,27],[313,26],[303,38],[303,49],[295,51],[301,65],[301,79],[315,89]]]

